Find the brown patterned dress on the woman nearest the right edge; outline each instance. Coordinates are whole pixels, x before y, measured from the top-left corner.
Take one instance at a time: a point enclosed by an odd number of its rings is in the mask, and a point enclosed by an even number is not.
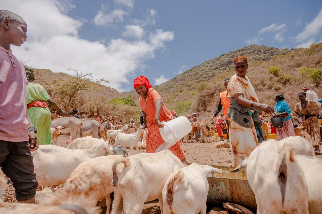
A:
[[[299,115],[315,115],[310,116],[307,119],[303,116],[302,119],[302,129],[310,135],[308,141],[312,143],[312,146],[320,145],[320,126],[317,120],[317,113],[321,111],[322,104],[315,102],[313,100],[308,100],[306,108],[301,106],[301,102],[295,105],[295,112]]]

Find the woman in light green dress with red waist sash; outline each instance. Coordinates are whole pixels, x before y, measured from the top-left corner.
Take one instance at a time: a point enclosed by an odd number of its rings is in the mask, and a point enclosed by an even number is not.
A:
[[[52,144],[52,133],[50,131],[52,117],[47,103],[54,107],[62,116],[68,116],[68,114],[59,108],[57,103],[50,98],[43,86],[34,82],[35,73],[33,68],[26,67],[25,71],[28,79],[27,108],[33,126],[38,129],[36,135],[39,145]]]

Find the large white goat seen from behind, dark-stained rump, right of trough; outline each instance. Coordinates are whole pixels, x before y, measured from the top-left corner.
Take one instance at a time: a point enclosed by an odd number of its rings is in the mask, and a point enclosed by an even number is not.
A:
[[[255,194],[258,214],[309,213],[308,186],[291,144],[263,142],[232,172],[242,167]]]

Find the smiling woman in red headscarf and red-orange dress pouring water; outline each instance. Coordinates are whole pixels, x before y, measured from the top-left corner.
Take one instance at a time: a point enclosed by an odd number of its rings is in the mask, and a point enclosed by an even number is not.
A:
[[[151,88],[149,80],[145,76],[139,76],[134,80],[133,88],[140,95],[140,107],[144,111],[144,127],[149,127],[147,132],[146,152],[154,153],[164,143],[160,130],[164,127],[162,121],[173,119],[172,113],[166,108],[159,93]],[[182,162],[186,163],[185,153],[181,140],[169,148]]]

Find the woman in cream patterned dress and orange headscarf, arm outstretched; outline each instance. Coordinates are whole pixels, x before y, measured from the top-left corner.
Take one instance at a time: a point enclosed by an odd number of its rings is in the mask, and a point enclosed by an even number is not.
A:
[[[247,58],[244,56],[236,57],[234,60],[235,72],[228,83],[229,97],[234,97],[239,105],[246,108],[260,109],[268,114],[274,113],[269,105],[258,103],[255,89],[251,85],[246,71],[248,68]],[[232,103],[230,103],[232,104]],[[258,146],[258,133],[251,117],[251,128],[239,125],[236,121],[229,118],[230,147],[232,153],[232,166],[236,167],[241,163],[239,155],[248,157]]]

